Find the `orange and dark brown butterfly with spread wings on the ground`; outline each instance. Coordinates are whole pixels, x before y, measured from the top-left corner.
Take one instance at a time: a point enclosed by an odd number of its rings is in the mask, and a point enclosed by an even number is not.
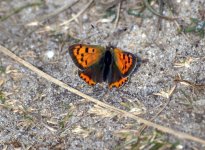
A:
[[[80,78],[91,86],[108,82],[109,89],[124,85],[137,62],[132,53],[114,46],[74,44],[69,47],[69,54],[80,69]]]

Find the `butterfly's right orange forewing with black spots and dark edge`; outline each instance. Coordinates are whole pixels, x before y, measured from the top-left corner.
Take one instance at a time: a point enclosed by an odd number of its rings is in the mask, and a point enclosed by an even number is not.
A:
[[[124,77],[128,76],[136,64],[133,54],[114,48],[115,63]]]

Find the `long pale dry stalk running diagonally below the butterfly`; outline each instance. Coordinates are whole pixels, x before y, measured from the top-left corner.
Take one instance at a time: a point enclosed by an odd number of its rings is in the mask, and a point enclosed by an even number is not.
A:
[[[106,109],[109,109],[111,111],[114,111],[114,112],[117,112],[119,114],[122,114],[123,116],[125,117],[129,117],[129,118],[132,118],[140,123],[144,123],[145,125],[149,126],[149,127],[153,127],[153,128],[156,128],[162,132],[165,132],[165,133],[169,133],[171,135],[174,135],[180,139],[186,139],[186,140],[191,140],[191,141],[194,141],[194,142],[197,142],[197,143],[200,143],[200,144],[205,144],[205,140],[204,139],[201,139],[201,138],[198,138],[198,137],[195,137],[195,136],[192,136],[190,134],[187,134],[187,133],[183,133],[183,132],[179,132],[179,131],[176,131],[176,130],[173,130],[171,128],[168,128],[168,127],[164,127],[164,126],[161,126],[161,125],[158,125],[156,123],[153,123],[153,122],[150,122],[148,120],[145,120],[141,117],[138,117],[138,116],[135,116],[129,112],[126,112],[124,110],[121,110],[121,109],[118,109],[118,108],[115,108],[113,106],[110,106],[109,104],[106,104],[102,101],[99,101],[91,96],[88,96],[70,86],[68,86],[67,84],[53,78],[52,76],[44,73],[43,71],[39,70],[38,68],[34,67],[33,65],[31,65],[30,63],[24,61],[23,59],[21,59],[20,57],[16,56],[14,53],[12,53],[11,51],[9,51],[7,48],[3,47],[0,45],[0,52],[5,54],[6,56],[9,56],[10,58],[14,59],[15,61],[19,62],[20,64],[22,64],[23,66],[29,68],[31,71],[35,72],[37,75],[39,75],[40,77],[42,78],[45,78],[46,80],[48,80],[49,82],[52,82],[52,83],[55,83],[56,85],[64,88],[64,89],[67,89],[69,92],[71,93],[74,93],[76,95],[79,95],[101,107],[104,107]]]

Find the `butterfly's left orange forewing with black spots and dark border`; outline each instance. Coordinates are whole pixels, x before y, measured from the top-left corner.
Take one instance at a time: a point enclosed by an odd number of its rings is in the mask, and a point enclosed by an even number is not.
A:
[[[69,53],[80,69],[96,64],[104,51],[104,48],[94,45],[75,44],[69,47]]]

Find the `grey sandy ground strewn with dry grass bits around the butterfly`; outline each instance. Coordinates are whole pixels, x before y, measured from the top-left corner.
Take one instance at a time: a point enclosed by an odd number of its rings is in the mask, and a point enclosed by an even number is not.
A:
[[[123,1],[116,28],[119,2],[112,0],[92,2],[88,8],[89,1],[81,0],[48,17],[72,2],[0,1],[0,44],[69,86],[148,120],[170,100],[153,122],[205,140],[205,39],[179,31],[196,24],[190,18],[205,20],[204,1],[174,0],[176,21],[159,19],[148,9],[143,17],[129,15],[142,1]],[[152,7],[159,10],[155,1]],[[163,15],[172,16],[167,5]],[[111,43],[138,55],[142,64],[120,89],[109,90],[106,83],[90,87],[65,53],[68,45],[79,41]],[[166,98],[162,93],[176,80],[180,82]],[[205,149],[152,128],[136,136],[141,125],[133,119],[50,83],[2,53],[0,102],[0,149]],[[129,144],[131,140],[135,143]]]

